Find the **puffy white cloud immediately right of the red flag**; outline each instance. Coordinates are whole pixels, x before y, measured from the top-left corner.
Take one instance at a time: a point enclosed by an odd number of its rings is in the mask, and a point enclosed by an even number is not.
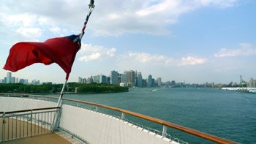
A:
[[[112,58],[116,54],[116,48],[104,48],[102,46],[93,46],[91,44],[82,44],[80,49],[79,61],[102,60]]]

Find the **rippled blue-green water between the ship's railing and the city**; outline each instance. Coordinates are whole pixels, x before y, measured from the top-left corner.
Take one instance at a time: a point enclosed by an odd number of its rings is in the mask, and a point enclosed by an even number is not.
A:
[[[211,88],[131,88],[128,93],[64,95],[160,118],[238,143],[256,143],[256,94]],[[127,116],[129,118],[129,116]],[[162,126],[129,118],[162,130]],[[210,143],[168,128],[188,143]]]

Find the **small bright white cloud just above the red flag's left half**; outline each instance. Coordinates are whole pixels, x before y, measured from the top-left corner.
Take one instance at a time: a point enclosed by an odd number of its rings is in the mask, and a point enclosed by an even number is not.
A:
[[[19,34],[22,34],[26,37],[41,37],[42,36],[42,29],[39,28],[26,28],[21,27],[16,30]]]

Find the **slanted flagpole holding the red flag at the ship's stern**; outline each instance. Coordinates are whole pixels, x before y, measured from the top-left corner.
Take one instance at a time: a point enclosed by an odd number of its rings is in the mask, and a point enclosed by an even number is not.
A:
[[[75,41],[78,40],[78,42],[80,42],[81,39],[83,38],[83,34],[85,33],[85,30],[86,30],[86,25],[87,25],[88,20],[89,20],[89,18],[91,16],[91,12],[94,10],[94,7],[95,7],[94,0],[90,0],[89,11],[88,11],[88,13],[86,15],[86,20],[83,23],[82,31],[79,34],[79,38],[75,39]],[[78,48],[78,50],[80,50],[80,47]],[[57,106],[61,107],[61,109],[62,109],[62,97],[63,97],[63,94],[64,94],[65,86],[67,85],[67,80],[68,79],[69,79],[69,74],[67,74],[67,76],[66,76],[66,80],[65,80],[64,85],[62,86],[61,94],[59,95],[59,100],[58,100],[58,103],[57,103]],[[56,112],[56,114],[53,117],[53,124],[50,127],[51,131],[54,131],[55,129],[58,129],[58,127],[59,127],[59,122],[60,122],[60,117],[61,117],[61,109],[58,112]]]

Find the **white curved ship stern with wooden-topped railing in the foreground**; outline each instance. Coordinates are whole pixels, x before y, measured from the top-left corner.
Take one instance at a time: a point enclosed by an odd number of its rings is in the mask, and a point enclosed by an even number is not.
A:
[[[42,132],[63,132],[80,143],[187,143],[167,134],[167,129],[170,128],[215,143],[235,143],[117,107],[64,98],[63,105],[56,107],[57,99],[54,96],[1,93],[0,119],[3,123],[0,124],[0,143],[34,137],[43,134]],[[80,105],[90,105],[94,108],[88,109]],[[100,109],[116,111],[120,116],[102,113]],[[126,115],[161,124],[162,132],[128,121]]]

